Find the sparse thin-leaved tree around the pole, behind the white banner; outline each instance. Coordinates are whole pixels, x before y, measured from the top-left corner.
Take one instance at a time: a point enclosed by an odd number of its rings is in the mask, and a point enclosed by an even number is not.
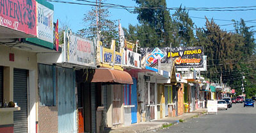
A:
[[[117,40],[118,38],[117,20],[109,19],[110,12],[108,8],[100,6],[102,1],[104,0],[99,0],[97,10],[95,7],[92,7],[92,10],[84,13],[83,20],[86,24],[86,28],[79,30],[78,35],[85,36],[86,38],[93,40],[93,37],[97,35],[98,27],[98,31],[100,31],[100,40],[105,43],[111,43],[111,40]]]

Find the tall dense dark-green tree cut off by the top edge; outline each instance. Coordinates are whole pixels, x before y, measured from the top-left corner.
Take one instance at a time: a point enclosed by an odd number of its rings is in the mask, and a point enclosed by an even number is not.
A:
[[[166,10],[165,0],[134,0],[137,19],[141,24],[138,36],[143,38],[142,47],[166,47],[173,41],[173,24],[170,12]],[[160,8],[159,8],[160,7]]]

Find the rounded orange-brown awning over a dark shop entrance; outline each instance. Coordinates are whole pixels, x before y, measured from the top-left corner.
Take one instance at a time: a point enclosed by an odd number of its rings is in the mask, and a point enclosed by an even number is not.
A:
[[[92,82],[113,82],[119,84],[133,84],[128,72],[111,69],[96,69]]]

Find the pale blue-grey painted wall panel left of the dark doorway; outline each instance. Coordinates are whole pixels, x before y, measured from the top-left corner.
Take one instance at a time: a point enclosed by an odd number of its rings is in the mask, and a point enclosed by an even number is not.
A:
[[[70,68],[57,69],[58,81],[58,132],[77,132],[76,127],[76,80]]]

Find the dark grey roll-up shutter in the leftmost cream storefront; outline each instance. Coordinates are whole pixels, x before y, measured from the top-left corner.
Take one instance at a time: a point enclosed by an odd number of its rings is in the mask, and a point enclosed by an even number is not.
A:
[[[28,132],[27,70],[13,70],[13,100],[20,111],[13,111],[14,132]]]

